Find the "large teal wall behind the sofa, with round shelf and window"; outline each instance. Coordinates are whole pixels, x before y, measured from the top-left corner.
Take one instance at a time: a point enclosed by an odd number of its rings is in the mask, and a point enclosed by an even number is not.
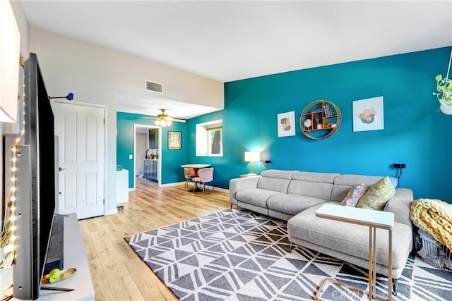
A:
[[[415,199],[452,202],[452,116],[438,112],[434,77],[446,75],[451,48],[340,63],[225,83],[225,110],[187,122],[189,163],[215,168],[215,186],[249,172],[244,152],[263,152],[256,172],[269,168],[397,176]],[[383,96],[384,130],[353,132],[352,102]],[[335,135],[311,140],[299,127],[307,104],[326,99],[343,121]],[[278,137],[277,115],[295,111],[296,135]],[[197,157],[196,124],[223,119],[222,157]],[[119,127],[119,125],[118,125]],[[168,179],[169,180],[169,179]]]

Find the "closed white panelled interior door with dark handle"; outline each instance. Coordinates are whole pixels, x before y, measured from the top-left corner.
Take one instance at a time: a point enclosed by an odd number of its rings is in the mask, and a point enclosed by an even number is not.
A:
[[[54,103],[59,136],[59,214],[78,219],[104,214],[105,109]]]

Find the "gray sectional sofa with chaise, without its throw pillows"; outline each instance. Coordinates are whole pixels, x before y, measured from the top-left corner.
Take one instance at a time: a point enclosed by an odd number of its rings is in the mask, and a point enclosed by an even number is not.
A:
[[[340,201],[356,185],[371,186],[381,176],[341,175],[307,171],[263,171],[261,176],[230,180],[230,202],[267,216],[287,221],[290,243],[308,247],[369,268],[369,228],[352,223],[321,219],[315,211],[326,202],[342,206]],[[391,182],[397,183],[395,178]],[[396,186],[396,185],[395,185]],[[396,188],[385,211],[393,212],[393,283],[401,276],[412,251],[410,204],[412,190]],[[364,210],[364,209],[363,209]],[[376,271],[388,275],[388,231],[376,231]]]

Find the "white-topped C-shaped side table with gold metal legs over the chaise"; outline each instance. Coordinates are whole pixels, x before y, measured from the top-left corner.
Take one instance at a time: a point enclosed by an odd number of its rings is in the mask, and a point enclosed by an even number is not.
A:
[[[336,281],[332,278],[325,278],[320,283],[319,290],[316,293],[316,300],[321,293],[322,287],[326,282],[341,285],[350,290],[369,296],[369,300],[377,298],[379,300],[392,300],[392,254],[393,254],[393,227],[394,214],[386,211],[376,211],[370,209],[361,209],[356,207],[341,206],[338,204],[323,204],[317,209],[316,216],[323,219],[333,219],[335,221],[343,221],[345,223],[355,223],[357,225],[369,227],[369,290],[364,291],[355,286]],[[388,297],[385,298],[376,295],[376,228],[388,230]]]

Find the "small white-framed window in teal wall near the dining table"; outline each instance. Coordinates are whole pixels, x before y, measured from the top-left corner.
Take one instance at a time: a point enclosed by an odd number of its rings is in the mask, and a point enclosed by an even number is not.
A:
[[[196,156],[223,155],[222,119],[196,125]]]

